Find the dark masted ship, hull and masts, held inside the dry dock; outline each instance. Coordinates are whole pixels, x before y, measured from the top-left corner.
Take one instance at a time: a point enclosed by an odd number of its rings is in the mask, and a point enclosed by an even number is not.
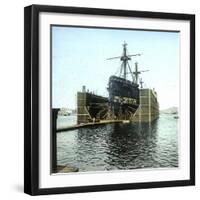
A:
[[[123,52],[121,56],[108,58],[107,60],[120,59],[121,67],[118,76],[111,76],[108,83],[109,103],[111,111],[116,119],[130,119],[140,105],[140,94],[138,76],[138,63],[135,63],[135,71],[133,72],[129,61],[133,56],[141,56],[141,54],[128,55],[127,43],[123,43]],[[128,80],[130,74],[131,80]]]

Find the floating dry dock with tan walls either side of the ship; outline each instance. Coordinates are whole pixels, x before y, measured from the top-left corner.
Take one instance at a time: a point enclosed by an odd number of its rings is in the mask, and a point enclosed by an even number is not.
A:
[[[77,94],[77,128],[81,124],[92,125],[92,121],[99,121],[95,124],[123,122],[116,120],[109,110],[108,99],[88,92],[78,92]],[[106,116],[107,119],[103,117]],[[140,89],[140,105],[134,115],[126,120],[133,122],[151,122],[159,116],[159,103],[155,90],[148,88]],[[101,123],[102,122],[102,123]],[[84,125],[84,126],[86,126]]]

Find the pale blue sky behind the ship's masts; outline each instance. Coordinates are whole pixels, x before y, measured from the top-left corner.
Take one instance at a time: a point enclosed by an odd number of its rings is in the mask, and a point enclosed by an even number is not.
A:
[[[52,26],[52,107],[76,108],[77,91],[86,89],[108,96],[108,79],[119,71],[122,44],[128,54],[142,53],[129,62],[145,88],[154,88],[160,109],[179,104],[179,33]],[[129,77],[131,79],[131,77]]]

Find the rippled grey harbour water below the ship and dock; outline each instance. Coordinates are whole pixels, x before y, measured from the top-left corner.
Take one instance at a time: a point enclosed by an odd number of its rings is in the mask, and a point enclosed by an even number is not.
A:
[[[60,117],[58,126],[75,120]],[[178,167],[178,120],[161,114],[151,124],[107,124],[61,132],[57,158],[58,164],[83,172]]]

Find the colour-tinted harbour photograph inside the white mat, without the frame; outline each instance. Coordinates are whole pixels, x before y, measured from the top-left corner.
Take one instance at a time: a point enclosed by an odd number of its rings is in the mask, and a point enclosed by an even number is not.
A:
[[[50,26],[51,173],[179,168],[180,31]]]

